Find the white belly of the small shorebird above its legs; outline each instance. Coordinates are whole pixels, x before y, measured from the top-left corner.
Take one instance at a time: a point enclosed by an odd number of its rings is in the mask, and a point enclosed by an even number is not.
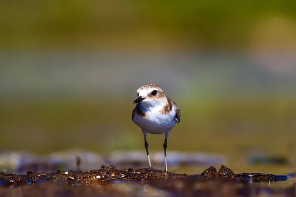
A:
[[[135,113],[134,123],[138,125],[143,132],[151,134],[161,134],[171,131],[176,124],[174,113],[163,114],[151,114],[147,113],[146,117],[139,116]]]

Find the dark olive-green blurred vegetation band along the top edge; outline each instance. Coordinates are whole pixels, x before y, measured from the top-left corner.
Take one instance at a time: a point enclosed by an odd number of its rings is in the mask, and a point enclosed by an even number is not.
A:
[[[295,10],[291,0],[1,1],[0,46],[237,48],[262,19],[279,16],[295,26]]]

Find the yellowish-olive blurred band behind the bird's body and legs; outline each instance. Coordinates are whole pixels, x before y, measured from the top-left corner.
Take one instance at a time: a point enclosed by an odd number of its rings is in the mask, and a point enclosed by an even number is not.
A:
[[[68,147],[101,153],[142,150],[141,130],[131,120],[133,105],[126,103],[129,102],[1,102],[0,131],[4,132],[0,149],[41,154]],[[171,131],[170,151],[221,153],[236,161],[254,153],[295,157],[295,99],[212,99],[178,105],[182,120]],[[151,151],[162,151],[163,140],[163,135],[148,135]]]

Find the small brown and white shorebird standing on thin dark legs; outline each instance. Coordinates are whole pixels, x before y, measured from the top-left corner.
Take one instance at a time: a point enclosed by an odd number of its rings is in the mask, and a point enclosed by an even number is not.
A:
[[[149,167],[152,168],[147,143],[147,133],[165,134],[163,143],[165,172],[168,171],[166,149],[167,139],[170,131],[176,123],[180,122],[181,112],[176,103],[164,95],[163,90],[153,84],[145,84],[138,90],[138,98],[133,104],[137,103],[132,113],[133,122],[142,129],[145,140]]]

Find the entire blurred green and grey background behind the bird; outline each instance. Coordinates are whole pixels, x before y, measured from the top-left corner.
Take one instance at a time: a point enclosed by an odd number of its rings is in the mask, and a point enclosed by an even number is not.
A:
[[[0,149],[144,150],[131,103],[156,83],[182,112],[168,150],[295,158],[296,1],[0,4]]]

